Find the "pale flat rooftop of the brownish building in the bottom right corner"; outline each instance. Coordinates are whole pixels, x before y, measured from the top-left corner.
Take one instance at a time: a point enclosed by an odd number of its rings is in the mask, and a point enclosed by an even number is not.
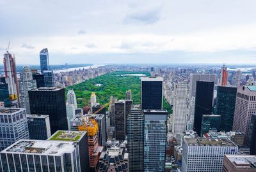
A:
[[[236,168],[256,169],[256,155],[226,155],[226,157]]]

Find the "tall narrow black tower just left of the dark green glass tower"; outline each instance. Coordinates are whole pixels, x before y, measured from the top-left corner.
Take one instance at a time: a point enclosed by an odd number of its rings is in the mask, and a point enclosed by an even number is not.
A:
[[[212,114],[214,82],[196,82],[194,131],[201,132],[202,115]]]

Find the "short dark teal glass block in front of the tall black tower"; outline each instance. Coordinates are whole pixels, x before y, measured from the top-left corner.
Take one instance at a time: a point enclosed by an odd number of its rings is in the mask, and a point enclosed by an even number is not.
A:
[[[220,115],[203,115],[201,123],[201,136],[208,133],[209,129],[216,129],[220,131]]]

